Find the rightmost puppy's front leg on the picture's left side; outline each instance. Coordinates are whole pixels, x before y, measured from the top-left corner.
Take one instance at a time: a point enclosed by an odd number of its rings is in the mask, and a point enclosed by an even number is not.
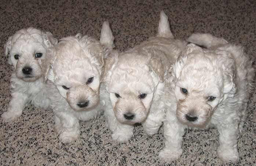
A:
[[[173,121],[167,119],[164,122],[165,147],[160,151],[159,158],[167,162],[178,159],[183,152],[181,144],[185,129],[175,119]]]

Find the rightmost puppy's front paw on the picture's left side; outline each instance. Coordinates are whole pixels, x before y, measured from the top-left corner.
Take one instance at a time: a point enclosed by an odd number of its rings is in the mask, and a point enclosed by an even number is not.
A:
[[[163,150],[160,151],[158,156],[163,161],[171,162],[180,158],[182,151],[183,151],[182,149],[170,150],[170,149],[164,148]]]

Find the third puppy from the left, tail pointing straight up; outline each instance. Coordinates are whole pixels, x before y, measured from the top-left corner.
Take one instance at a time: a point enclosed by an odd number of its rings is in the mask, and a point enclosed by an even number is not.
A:
[[[100,41],[111,47],[112,38],[106,35]],[[112,51],[105,59],[103,80],[112,103],[106,104],[105,116],[114,140],[129,140],[136,123],[150,135],[158,132],[165,116],[164,77],[185,45],[174,39],[162,11],[157,37],[122,53]]]

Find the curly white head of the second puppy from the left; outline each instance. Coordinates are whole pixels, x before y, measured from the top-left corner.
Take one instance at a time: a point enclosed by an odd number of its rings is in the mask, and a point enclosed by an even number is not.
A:
[[[90,110],[99,102],[103,47],[80,34],[63,38],[50,50],[53,54],[48,79],[76,111]]]

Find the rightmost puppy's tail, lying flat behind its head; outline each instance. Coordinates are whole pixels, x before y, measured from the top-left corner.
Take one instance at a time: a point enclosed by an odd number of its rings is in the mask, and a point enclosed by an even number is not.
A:
[[[206,48],[219,47],[228,43],[225,39],[217,38],[211,34],[192,34],[187,41]]]

